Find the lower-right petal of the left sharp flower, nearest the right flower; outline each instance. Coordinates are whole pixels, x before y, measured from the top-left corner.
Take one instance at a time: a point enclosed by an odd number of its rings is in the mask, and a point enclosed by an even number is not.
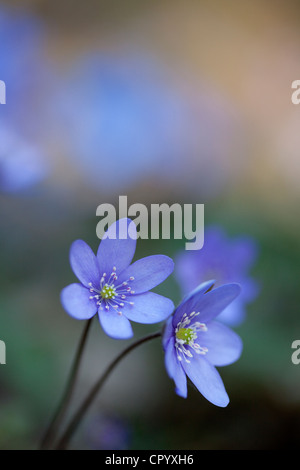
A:
[[[125,304],[122,313],[129,320],[151,324],[165,320],[174,310],[172,300],[154,292],[133,295],[134,305]]]

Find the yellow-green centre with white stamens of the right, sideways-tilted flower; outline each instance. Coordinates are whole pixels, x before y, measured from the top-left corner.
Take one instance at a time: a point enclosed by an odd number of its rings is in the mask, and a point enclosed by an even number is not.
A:
[[[191,351],[196,354],[206,354],[208,351],[205,346],[200,346],[199,343],[195,342],[198,339],[198,332],[207,331],[205,323],[194,321],[194,318],[199,314],[200,312],[192,312],[189,315],[185,313],[175,328],[175,348],[179,361],[184,359],[185,362],[190,363],[191,361],[188,358],[193,357]]]

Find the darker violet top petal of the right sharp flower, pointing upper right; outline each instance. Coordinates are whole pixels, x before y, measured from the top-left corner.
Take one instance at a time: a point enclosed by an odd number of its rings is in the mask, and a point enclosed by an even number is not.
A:
[[[238,284],[225,284],[203,294],[203,291],[196,292],[187,298],[178,307],[173,317],[173,326],[176,326],[184,313],[200,312],[197,320],[208,323],[219,315],[240,293]]]

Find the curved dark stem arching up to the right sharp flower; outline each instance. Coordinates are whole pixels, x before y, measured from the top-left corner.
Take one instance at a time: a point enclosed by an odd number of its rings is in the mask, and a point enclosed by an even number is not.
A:
[[[77,412],[75,413],[73,419],[71,420],[70,424],[68,425],[66,431],[64,432],[63,436],[61,437],[60,441],[58,442],[56,446],[56,450],[65,450],[72,435],[76,431],[78,425],[80,424],[82,418],[84,417],[84,414],[88,410],[89,406],[92,404],[94,398],[100,391],[101,387],[103,386],[104,382],[110,375],[110,373],[113,371],[113,369],[117,366],[117,364],[125,357],[127,356],[130,351],[133,349],[137,348],[143,343],[146,343],[147,341],[150,341],[154,338],[158,338],[161,336],[161,331],[158,331],[156,333],[152,333],[148,336],[145,336],[135,343],[131,344],[128,346],[124,351],[122,351],[112,362],[111,364],[107,367],[103,375],[98,379],[98,381],[95,383],[94,387],[91,389],[90,393],[87,395],[86,399],[83,401],[81,406],[78,408]]]

